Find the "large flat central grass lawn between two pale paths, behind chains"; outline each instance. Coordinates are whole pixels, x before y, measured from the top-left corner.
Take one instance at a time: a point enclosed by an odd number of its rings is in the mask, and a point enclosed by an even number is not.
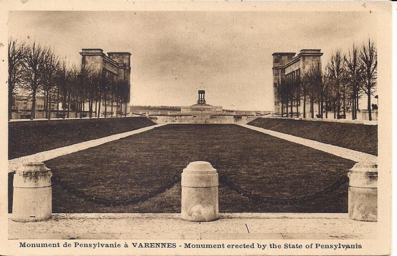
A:
[[[46,161],[90,195],[126,199],[169,181],[192,161],[208,161],[240,187],[276,198],[317,192],[354,162],[236,125],[167,125]],[[12,199],[12,198],[11,198]],[[53,187],[53,212],[180,212],[180,183],[127,206],[94,204]],[[220,212],[347,212],[347,185],[305,203],[255,202],[220,185]]]

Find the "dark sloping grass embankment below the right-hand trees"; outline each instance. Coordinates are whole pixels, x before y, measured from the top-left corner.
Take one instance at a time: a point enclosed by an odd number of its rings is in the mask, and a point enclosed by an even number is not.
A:
[[[257,118],[248,125],[378,155],[378,126]]]

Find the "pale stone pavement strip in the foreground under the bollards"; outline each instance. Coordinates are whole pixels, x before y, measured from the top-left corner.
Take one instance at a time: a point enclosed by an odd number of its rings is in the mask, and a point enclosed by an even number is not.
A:
[[[376,239],[377,222],[347,213],[220,213],[189,222],[178,213],[61,213],[51,220],[8,219],[8,239]]]

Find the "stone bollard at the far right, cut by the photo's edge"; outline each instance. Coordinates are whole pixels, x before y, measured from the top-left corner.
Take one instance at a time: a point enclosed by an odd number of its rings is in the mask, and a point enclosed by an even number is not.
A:
[[[378,220],[378,165],[359,162],[350,169],[349,218],[359,221]]]

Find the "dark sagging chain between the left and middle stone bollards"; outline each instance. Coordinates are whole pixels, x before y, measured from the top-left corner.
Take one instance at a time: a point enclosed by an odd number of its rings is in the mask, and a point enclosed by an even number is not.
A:
[[[110,200],[107,198],[103,198],[100,196],[96,195],[89,195],[86,194],[83,191],[79,191],[76,188],[68,185],[66,182],[62,181],[59,176],[53,175],[52,177],[52,182],[55,185],[59,185],[62,189],[64,189],[67,193],[72,194],[78,198],[82,198],[86,201],[97,203],[97,204],[102,204],[105,206],[119,206],[119,205],[130,205],[130,204],[135,204],[138,202],[144,202],[149,198],[152,198],[159,193],[162,193],[166,191],[167,189],[171,189],[175,184],[181,181],[181,177],[179,175],[174,175],[173,179],[169,182],[167,182],[164,185],[161,185],[154,189],[151,192],[148,192],[146,194],[140,195],[140,196],[135,196],[130,199],[114,199]]]

